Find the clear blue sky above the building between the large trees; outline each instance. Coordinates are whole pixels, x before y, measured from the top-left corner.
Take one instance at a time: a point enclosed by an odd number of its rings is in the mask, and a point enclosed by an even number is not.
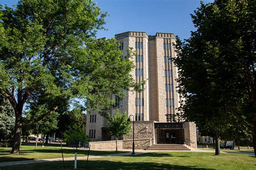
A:
[[[17,0],[0,0],[1,4],[16,4]],[[97,38],[112,38],[126,31],[174,33],[181,39],[189,38],[194,30],[190,14],[200,6],[200,0],[95,0],[109,13],[105,28]],[[204,3],[213,0],[204,0]]]

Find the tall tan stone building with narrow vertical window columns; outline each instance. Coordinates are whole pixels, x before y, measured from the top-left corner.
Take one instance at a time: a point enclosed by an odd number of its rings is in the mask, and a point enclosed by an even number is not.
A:
[[[126,91],[126,97],[120,102],[119,110],[126,111],[127,116],[133,115],[137,127],[140,127],[136,129],[135,138],[152,138],[153,144],[185,142],[196,147],[196,126],[174,116],[181,100],[177,93],[178,71],[172,62],[176,57],[174,34],[149,36],[146,32],[124,32],[116,34],[115,38],[124,56],[130,47],[136,51],[137,55],[130,59],[136,66],[131,75],[137,83],[146,82],[143,92]],[[113,114],[113,110],[110,112]],[[110,140],[107,120],[97,111],[93,113],[87,114],[86,133],[93,140]]]

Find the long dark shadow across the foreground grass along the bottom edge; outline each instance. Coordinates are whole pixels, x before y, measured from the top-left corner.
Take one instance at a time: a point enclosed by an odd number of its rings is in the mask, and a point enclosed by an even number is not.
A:
[[[183,166],[172,164],[161,164],[158,162],[122,162],[107,160],[89,160],[87,167],[85,160],[78,160],[77,169],[207,169],[197,166]],[[51,162],[44,164],[29,164],[19,166],[3,167],[2,169],[64,169],[62,162]],[[73,161],[65,161],[65,170],[73,169]],[[210,169],[210,168],[208,168]]]

